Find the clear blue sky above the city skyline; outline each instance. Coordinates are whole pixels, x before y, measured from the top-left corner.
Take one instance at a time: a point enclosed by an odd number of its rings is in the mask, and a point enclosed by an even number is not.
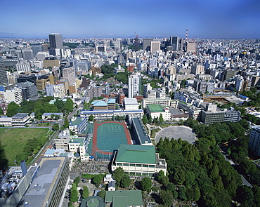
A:
[[[0,0],[0,37],[260,39],[259,0]]]

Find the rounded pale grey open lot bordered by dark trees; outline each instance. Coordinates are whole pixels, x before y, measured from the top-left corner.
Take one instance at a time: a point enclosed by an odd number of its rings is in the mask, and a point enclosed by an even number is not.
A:
[[[160,132],[155,135],[155,142],[158,143],[160,138],[169,138],[171,140],[186,140],[190,144],[192,144],[196,140],[195,133],[188,126],[169,126],[167,128],[163,128]]]

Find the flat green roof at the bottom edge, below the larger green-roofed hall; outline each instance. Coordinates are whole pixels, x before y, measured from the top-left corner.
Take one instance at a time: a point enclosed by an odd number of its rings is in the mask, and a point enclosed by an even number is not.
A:
[[[119,203],[119,201],[122,201],[122,203]],[[113,202],[113,207],[124,207],[125,201],[127,202],[127,206],[143,206],[141,190],[116,190],[105,192],[105,203]]]

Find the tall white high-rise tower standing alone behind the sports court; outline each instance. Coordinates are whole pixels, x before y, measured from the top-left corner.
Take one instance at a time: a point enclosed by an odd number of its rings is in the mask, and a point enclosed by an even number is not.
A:
[[[134,95],[139,95],[141,93],[141,75],[131,74],[128,77],[128,98],[133,98]]]

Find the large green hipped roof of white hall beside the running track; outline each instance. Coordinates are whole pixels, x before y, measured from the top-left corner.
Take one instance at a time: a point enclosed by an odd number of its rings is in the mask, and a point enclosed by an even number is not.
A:
[[[155,146],[120,145],[115,161],[127,163],[155,164]]]

